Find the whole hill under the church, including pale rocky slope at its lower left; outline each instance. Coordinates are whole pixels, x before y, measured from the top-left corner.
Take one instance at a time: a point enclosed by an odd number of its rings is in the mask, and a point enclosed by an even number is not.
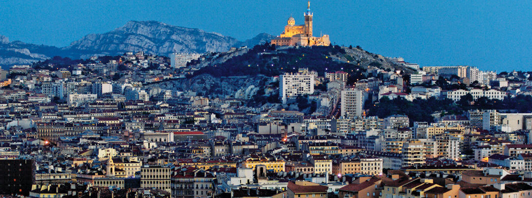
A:
[[[211,53],[204,58],[203,61],[189,66],[197,70],[194,75],[189,75],[186,79],[153,83],[149,87],[195,91],[201,96],[223,97],[250,85],[263,87],[260,83],[264,83],[268,76],[297,72],[303,67],[317,71],[321,76],[324,72],[347,72],[347,84],[370,77],[370,74],[366,73],[368,68],[413,72],[386,57],[356,47],[257,45],[225,53]]]

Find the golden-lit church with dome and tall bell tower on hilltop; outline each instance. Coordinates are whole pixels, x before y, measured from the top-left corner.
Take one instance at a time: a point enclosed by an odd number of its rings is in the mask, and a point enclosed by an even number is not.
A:
[[[312,36],[312,12],[310,12],[310,1],[304,16],[304,25],[295,25],[296,20],[290,16],[290,18],[288,18],[288,24],[285,26],[285,31],[281,33],[281,36],[272,39],[271,44],[277,46],[329,46],[331,44],[329,35],[323,35],[320,37]]]

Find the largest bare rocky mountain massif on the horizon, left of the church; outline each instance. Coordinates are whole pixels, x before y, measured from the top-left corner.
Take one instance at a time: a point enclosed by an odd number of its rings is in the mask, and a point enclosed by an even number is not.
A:
[[[72,42],[65,50],[83,50],[82,57],[99,54],[121,54],[124,51],[144,51],[168,56],[170,53],[205,53],[227,51],[240,41],[218,33],[183,28],[156,21],[130,21],[103,34],[90,34]]]

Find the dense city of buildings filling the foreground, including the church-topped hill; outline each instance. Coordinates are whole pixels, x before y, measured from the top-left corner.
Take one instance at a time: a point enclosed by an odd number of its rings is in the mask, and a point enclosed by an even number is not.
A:
[[[227,51],[4,67],[0,195],[532,197],[532,72],[421,67],[303,15]]]

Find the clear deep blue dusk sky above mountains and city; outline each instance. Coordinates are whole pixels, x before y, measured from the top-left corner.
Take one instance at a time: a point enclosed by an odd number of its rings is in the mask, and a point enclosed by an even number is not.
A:
[[[314,0],[314,33],[338,45],[430,65],[532,71],[532,1]],[[281,33],[292,14],[303,23],[306,1],[7,1],[0,35],[67,46],[130,20],[200,28],[240,40]]]

